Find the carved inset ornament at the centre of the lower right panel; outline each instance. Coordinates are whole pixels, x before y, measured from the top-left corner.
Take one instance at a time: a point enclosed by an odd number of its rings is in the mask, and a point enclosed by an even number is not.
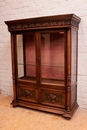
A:
[[[62,94],[45,93],[44,98],[51,103],[62,103]]]

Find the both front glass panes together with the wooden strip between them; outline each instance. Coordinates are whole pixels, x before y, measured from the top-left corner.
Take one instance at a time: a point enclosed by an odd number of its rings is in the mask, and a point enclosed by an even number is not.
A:
[[[64,84],[64,31],[17,34],[16,46],[18,79],[31,82],[38,80],[41,84]]]

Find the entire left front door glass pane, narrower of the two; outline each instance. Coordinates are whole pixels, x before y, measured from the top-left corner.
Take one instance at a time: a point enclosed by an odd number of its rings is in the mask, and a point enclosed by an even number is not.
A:
[[[34,33],[17,35],[18,78],[36,80]]]

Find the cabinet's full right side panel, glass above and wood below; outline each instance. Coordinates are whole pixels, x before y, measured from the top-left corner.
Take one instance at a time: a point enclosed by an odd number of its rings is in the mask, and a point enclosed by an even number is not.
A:
[[[77,100],[77,30],[72,29],[71,43],[71,106],[73,106]]]

